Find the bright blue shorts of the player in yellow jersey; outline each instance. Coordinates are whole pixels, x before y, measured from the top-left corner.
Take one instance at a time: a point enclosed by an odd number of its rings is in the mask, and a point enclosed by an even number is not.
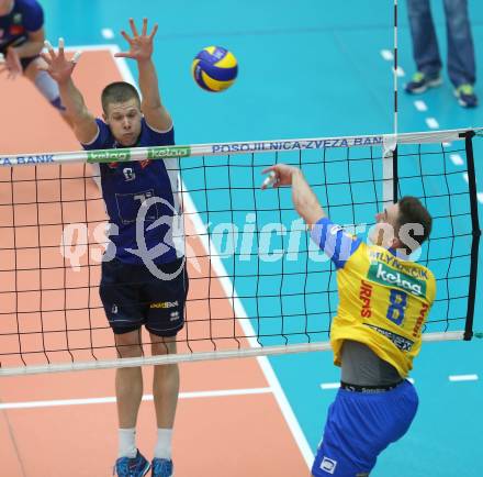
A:
[[[407,432],[417,404],[409,381],[377,393],[339,389],[328,410],[313,476],[368,476],[378,455]]]

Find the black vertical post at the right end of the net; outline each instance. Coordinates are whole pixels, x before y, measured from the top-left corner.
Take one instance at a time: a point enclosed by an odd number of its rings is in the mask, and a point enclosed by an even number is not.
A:
[[[470,286],[468,290],[468,309],[467,322],[464,326],[464,340],[470,341],[473,337],[473,319],[474,319],[474,302],[476,299],[476,278],[478,278],[478,259],[480,249],[480,220],[478,217],[478,196],[476,196],[476,176],[474,171],[474,155],[473,155],[473,136],[474,131],[467,131],[464,133],[464,146],[467,149],[468,163],[468,185],[470,189],[470,208],[471,208],[471,223],[473,241],[471,243],[471,264],[470,264]]]

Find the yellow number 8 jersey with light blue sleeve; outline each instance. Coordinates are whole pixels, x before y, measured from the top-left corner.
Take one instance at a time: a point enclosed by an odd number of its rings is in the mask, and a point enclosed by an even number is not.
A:
[[[337,269],[339,304],[330,326],[334,364],[340,366],[344,341],[352,340],[368,345],[405,378],[435,300],[433,273],[392,249],[366,244],[327,218],[314,226],[312,237]]]

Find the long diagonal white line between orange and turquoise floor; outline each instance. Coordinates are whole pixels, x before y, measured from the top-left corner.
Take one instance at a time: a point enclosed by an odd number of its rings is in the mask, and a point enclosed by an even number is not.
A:
[[[110,48],[112,54],[117,53],[120,51],[116,45],[106,45],[104,48]],[[124,80],[136,86],[133,74],[130,70],[125,58],[117,58],[116,65]],[[200,214],[194,206],[193,200],[191,199],[191,196],[187,191],[184,182],[181,184],[181,190],[183,191],[184,211],[189,213],[190,220],[193,223],[194,230],[196,231],[200,242],[202,243],[206,254],[209,253],[209,251],[216,251],[216,247],[214,246],[213,242],[211,241],[211,239],[209,239],[210,235],[206,231],[206,228],[204,226],[203,222],[200,219]],[[242,301],[238,298],[238,295],[236,293],[232,280],[228,278],[229,275],[226,271],[225,266],[223,265],[223,262],[221,260],[218,253],[214,253],[212,255],[211,265],[220,280],[220,284],[222,285],[226,298],[228,299],[235,311],[235,315],[239,320],[238,323],[243,329],[245,335],[252,336],[247,339],[248,343],[250,344],[251,347],[259,347],[260,345],[258,344],[257,340],[254,337],[256,336],[255,330],[250,321],[248,320],[248,315],[245,311]],[[265,378],[267,379],[270,386],[271,391],[273,392],[277,403],[279,404],[280,411],[283,418],[285,419],[285,422],[292,433],[295,443],[299,446],[302,457],[304,458],[307,467],[312,468],[312,464],[314,462],[314,454],[311,450],[311,446],[308,445],[308,441],[306,440],[305,434],[302,431],[302,428],[296,419],[296,415],[293,412],[293,409],[290,406],[289,400],[287,399],[285,392],[283,391],[283,388],[280,385],[280,381],[276,373],[273,371],[273,368],[269,359],[267,358],[267,356],[258,356],[257,362],[261,368]]]

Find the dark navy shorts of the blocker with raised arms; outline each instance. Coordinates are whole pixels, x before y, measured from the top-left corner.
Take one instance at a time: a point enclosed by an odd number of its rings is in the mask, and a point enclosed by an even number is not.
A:
[[[175,336],[184,325],[188,274],[183,259],[158,265],[165,274],[181,271],[171,280],[155,277],[144,265],[116,258],[102,262],[99,295],[116,334],[142,325],[158,336]]]

